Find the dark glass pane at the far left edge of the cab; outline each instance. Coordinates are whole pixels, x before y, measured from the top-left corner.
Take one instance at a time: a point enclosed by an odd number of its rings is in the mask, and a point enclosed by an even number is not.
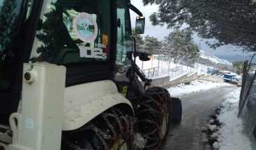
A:
[[[0,0],[0,93],[11,92],[22,1]]]

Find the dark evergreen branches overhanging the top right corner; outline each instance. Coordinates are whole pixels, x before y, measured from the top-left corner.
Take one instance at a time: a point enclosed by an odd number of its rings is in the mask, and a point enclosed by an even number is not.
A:
[[[232,44],[243,51],[256,51],[256,4],[252,0],[143,0],[156,3],[158,12],[150,19],[153,25],[179,28],[184,23],[202,38],[216,38],[211,47]]]

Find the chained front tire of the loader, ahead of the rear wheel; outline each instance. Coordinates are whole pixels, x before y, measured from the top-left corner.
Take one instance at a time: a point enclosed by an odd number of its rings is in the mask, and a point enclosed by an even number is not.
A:
[[[142,96],[138,108],[138,130],[147,140],[145,149],[162,149],[170,126],[170,106],[171,97],[164,88],[149,88]],[[160,135],[164,119],[166,131]]]

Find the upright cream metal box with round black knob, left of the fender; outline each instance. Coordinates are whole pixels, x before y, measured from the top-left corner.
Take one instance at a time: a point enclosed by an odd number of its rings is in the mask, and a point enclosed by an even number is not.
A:
[[[23,70],[22,111],[10,115],[8,150],[60,149],[66,68],[37,63],[24,64]]]

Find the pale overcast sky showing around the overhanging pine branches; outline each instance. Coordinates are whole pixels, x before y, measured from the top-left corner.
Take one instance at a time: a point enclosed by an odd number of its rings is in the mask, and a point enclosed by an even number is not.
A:
[[[131,3],[135,7],[137,7],[143,15],[146,17],[146,27],[145,27],[145,33],[142,36],[150,35],[153,37],[158,38],[158,40],[164,40],[165,36],[167,36],[172,30],[167,29],[166,26],[152,26],[151,22],[149,21],[149,16],[153,12],[158,11],[158,6],[157,5],[149,5],[149,6],[143,6],[142,0],[131,0]],[[137,17],[137,14],[135,12],[130,11],[131,15],[131,20],[132,20],[132,26],[135,27],[135,18]],[[197,35],[194,35],[194,41],[197,44],[200,44],[202,47],[202,50],[207,51],[215,56],[218,56],[220,58],[225,58],[229,61],[234,61],[234,60],[246,60],[245,54],[241,52],[234,52],[233,49],[230,47],[221,47],[219,49],[211,49],[208,47],[205,42],[206,40],[203,40],[199,38]]]

